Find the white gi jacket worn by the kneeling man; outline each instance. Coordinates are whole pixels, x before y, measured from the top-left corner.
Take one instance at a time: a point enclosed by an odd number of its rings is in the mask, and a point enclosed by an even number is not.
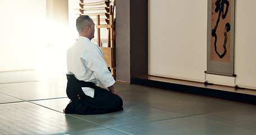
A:
[[[105,88],[115,83],[107,64],[103,59],[102,51],[97,44],[86,37],[79,36],[78,41],[67,51],[68,74],[74,74],[78,80],[100,82]],[[83,87],[87,96],[94,96],[94,89]]]

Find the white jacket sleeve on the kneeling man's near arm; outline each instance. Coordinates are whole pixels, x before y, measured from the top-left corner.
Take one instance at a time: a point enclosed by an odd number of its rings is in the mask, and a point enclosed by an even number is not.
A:
[[[98,82],[103,84],[105,88],[113,86],[115,80],[109,69],[107,69],[107,64],[103,59],[100,48],[93,43],[89,44],[87,48],[81,58],[85,66],[93,72]]]

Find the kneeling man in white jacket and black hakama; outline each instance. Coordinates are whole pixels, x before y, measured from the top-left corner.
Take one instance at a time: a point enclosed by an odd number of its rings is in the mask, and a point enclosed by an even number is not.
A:
[[[66,93],[70,102],[66,114],[105,114],[123,109],[123,100],[115,91],[115,83],[100,47],[92,43],[95,24],[87,16],[77,19],[78,41],[67,51],[68,84]],[[96,86],[100,82],[105,88]]]

